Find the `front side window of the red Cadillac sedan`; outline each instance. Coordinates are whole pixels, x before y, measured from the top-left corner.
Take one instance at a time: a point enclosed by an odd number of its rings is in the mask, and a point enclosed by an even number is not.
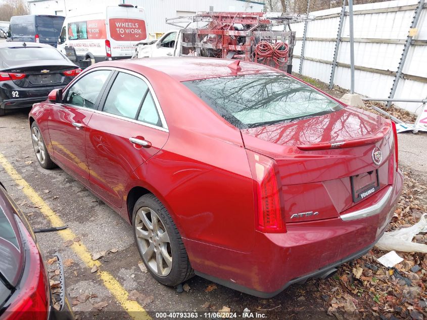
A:
[[[109,70],[99,70],[83,76],[68,90],[64,103],[94,109],[95,102],[109,74]]]

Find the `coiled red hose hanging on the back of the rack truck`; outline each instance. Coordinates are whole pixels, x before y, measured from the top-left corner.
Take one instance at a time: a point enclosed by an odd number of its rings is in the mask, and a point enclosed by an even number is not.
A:
[[[255,47],[255,60],[266,65],[272,60],[276,68],[279,68],[288,62],[288,53],[288,43],[276,42],[271,44],[267,41],[260,41]]]

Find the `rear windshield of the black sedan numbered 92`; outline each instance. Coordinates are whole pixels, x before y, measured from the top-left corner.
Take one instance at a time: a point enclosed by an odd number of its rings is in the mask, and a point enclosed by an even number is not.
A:
[[[6,61],[61,59],[64,59],[64,57],[53,47],[13,47],[0,49],[0,60]]]

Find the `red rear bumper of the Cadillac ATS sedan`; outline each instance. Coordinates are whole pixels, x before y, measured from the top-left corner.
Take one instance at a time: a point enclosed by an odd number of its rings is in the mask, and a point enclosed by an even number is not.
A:
[[[256,232],[251,253],[184,239],[197,275],[257,297],[269,298],[290,285],[358,258],[379,240],[393,217],[403,185],[396,174],[390,196],[377,213],[288,223],[284,234]],[[382,198],[389,188],[384,188]]]

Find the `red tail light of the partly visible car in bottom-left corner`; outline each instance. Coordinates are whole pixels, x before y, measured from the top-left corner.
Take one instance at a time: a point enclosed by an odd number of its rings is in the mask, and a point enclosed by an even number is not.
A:
[[[24,275],[18,289],[18,295],[6,309],[5,320],[31,319],[46,320],[49,311],[49,280],[44,269],[43,259],[30,234],[26,232],[28,255],[25,261]]]

